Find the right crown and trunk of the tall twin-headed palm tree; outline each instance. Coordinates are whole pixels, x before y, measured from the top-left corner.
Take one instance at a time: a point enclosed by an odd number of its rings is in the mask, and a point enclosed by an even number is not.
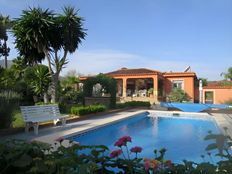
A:
[[[58,78],[63,67],[68,63],[67,54],[73,53],[77,50],[78,45],[82,39],[85,38],[86,33],[82,28],[82,18],[77,15],[72,7],[65,7],[61,15],[55,18],[55,27],[53,28],[56,32],[56,37],[52,37],[51,46],[54,51],[53,65],[55,72],[52,74],[52,101],[57,100],[57,85]],[[58,36],[57,36],[57,33]],[[58,38],[58,39],[53,39]],[[62,50],[63,56],[58,56],[58,52]]]

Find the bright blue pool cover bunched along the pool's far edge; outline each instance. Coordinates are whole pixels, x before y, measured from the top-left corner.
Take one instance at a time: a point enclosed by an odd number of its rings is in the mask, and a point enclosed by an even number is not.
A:
[[[161,107],[177,108],[184,112],[201,112],[207,109],[227,109],[229,105],[225,104],[201,104],[201,103],[175,103],[175,102],[161,102]]]

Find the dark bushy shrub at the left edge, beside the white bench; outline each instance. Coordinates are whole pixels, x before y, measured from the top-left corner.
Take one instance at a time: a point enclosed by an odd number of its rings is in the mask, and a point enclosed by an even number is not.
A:
[[[13,91],[0,92],[0,128],[9,128],[13,120],[13,113],[19,106],[20,96]]]

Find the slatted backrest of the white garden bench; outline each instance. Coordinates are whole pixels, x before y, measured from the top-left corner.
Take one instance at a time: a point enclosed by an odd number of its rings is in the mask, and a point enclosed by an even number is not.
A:
[[[20,109],[25,122],[41,118],[51,120],[60,116],[58,105],[20,106]]]

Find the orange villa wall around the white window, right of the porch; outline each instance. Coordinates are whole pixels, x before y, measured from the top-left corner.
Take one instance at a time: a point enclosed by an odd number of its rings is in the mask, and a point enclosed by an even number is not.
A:
[[[194,89],[194,77],[166,77],[165,79],[165,91],[168,95],[172,90],[172,80],[183,80],[184,81],[184,91],[191,97],[191,100],[195,99],[195,89]]]

